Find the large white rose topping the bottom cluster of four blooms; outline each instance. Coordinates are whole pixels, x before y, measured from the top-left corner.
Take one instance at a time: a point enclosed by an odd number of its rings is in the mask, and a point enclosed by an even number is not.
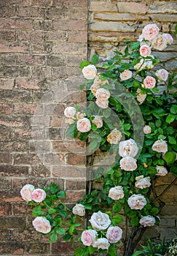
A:
[[[108,214],[101,211],[94,212],[89,220],[95,230],[106,230],[111,225],[111,220]]]

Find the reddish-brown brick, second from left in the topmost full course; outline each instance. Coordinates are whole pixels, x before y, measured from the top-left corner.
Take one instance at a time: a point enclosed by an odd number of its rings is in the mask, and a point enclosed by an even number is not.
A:
[[[44,18],[44,8],[41,7],[18,7],[18,17]]]

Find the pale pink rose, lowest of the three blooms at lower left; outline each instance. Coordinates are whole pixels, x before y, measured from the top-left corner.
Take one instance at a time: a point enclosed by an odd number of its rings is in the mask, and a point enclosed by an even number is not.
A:
[[[32,222],[36,231],[40,233],[47,234],[51,230],[51,225],[48,219],[44,219],[43,217],[36,217]]]

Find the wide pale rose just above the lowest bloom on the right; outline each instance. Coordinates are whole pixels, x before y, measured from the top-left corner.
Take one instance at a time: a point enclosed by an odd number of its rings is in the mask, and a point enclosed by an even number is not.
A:
[[[146,198],[141,194],[134,194],[128,198],[127,203],[132,210],[141,210],[146,206]]]

